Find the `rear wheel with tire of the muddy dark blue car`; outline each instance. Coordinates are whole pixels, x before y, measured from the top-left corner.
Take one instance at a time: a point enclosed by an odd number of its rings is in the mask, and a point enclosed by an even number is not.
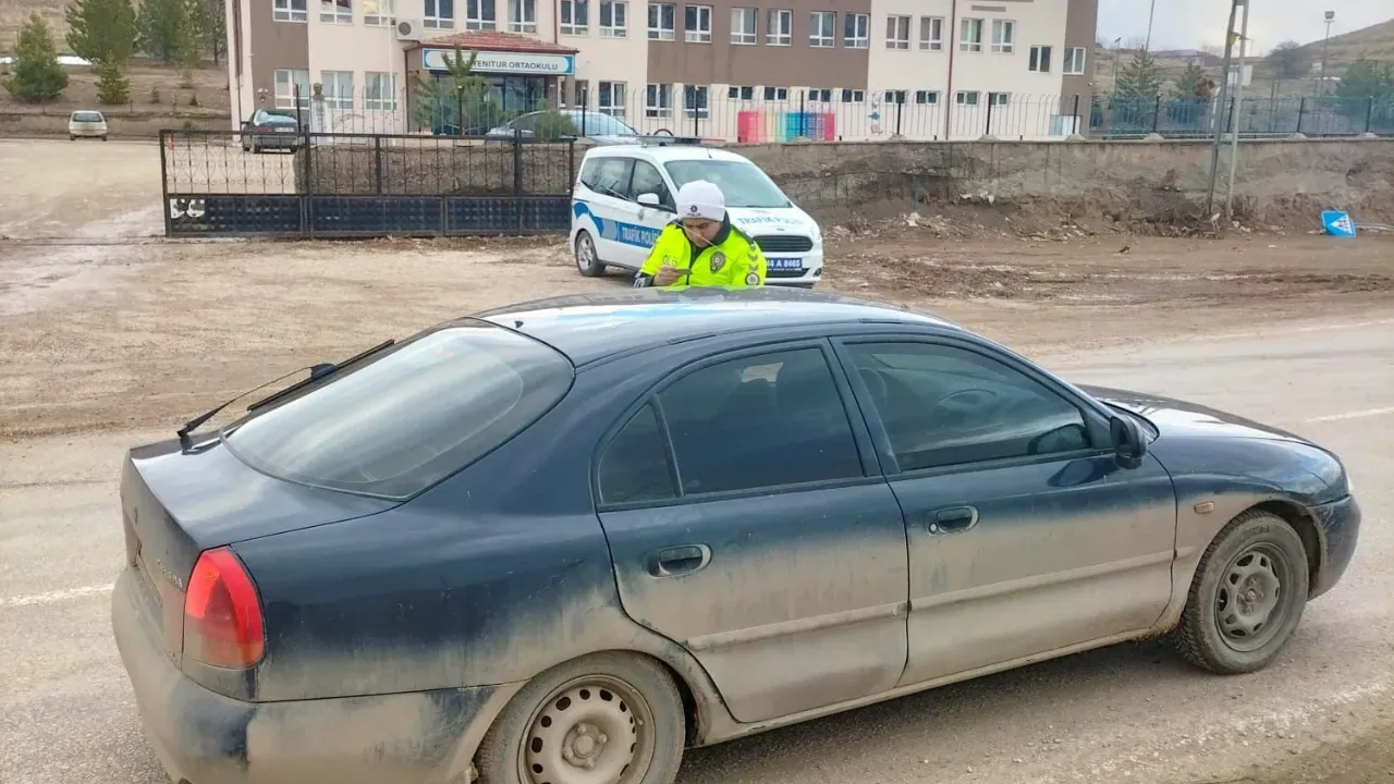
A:
[[[686,711],[668,670],[598,653],[528,681],[475,760],[482,784],[672,784],[684,741]]]

